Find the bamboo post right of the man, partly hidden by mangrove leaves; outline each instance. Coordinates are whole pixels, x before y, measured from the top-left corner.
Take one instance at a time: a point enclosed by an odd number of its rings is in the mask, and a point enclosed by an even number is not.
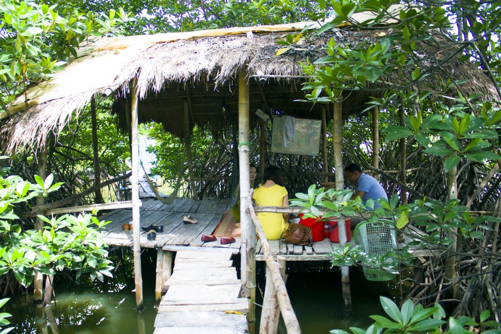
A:
[[[447,200],[457,198],[457,167],[452,168],[447,172]],[[447,232],[447,237],[452,240],[448,246],[447,259],[445,261],[445,279],[449,284],[452,284],[457,277],[456,266],[456,247],[457,247],[457,227],[450,228]],[[453,298],[459,297],[459,285],[455,284],[452,292]]]

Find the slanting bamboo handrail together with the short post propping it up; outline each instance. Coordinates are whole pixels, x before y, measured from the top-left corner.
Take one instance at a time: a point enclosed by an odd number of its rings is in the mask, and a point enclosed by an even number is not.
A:
[[[299,326],[299,321],[294,313],[294,309],[292,308],[291,300],[284,282],[285,258],[280,258],[279,256],[279,261],[282,262],[281,268],[279,262],[277,262],[272,255],[270,244],[268,243],[268,239],[263,231],[263,226],[261,226],[261,222],[256,216],[256,211],[254,210],[252,203],[253,192],[254,189],[250,189],[247,197],[247,207],[250,212],[250,218],[252,218],[254,224],[256,225],[256,230],[261,240],[261,245],[263,246],[263,254],[266,263],[266,288],[263,311],[261,313],[260,333],[276,333],[280,312],[282,312],[287,333],[300,334],[301,328]],[[276,307],[277,303],[278,306],[280,306],[280,309]]]

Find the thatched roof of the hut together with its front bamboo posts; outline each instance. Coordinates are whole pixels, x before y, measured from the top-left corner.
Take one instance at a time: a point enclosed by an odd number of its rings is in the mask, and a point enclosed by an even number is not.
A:
[[[382,35],[382,31],[374,29],[336,30],[307,39],[303,45],[293,46],[277,56],[282,47],[277,41],[287,34],[301,31],[305,25],[316,27],[314,23],[297,23],[101,40],[82,49],[80,56],[53,79],[30,88],[26,94],[27,101],[22,95],[11,103],[9,115],[0,115],[5,123],[2,127],[4,148],[13,151],[24,146],[33,149],[43,147],[48,134],[51,131],[57,134],[69,118],[75,113],[78,115],[95,95],[111,94],[114,99],[112,112],[118,115],[118,124],[123,131],[130,131],[132,139],[134,254],[136,264],[140,265],[137,260],[139,234],[136,237],[140,230],[137,204],[138,122],[159,122],[166,131],[180,138],[188,137],[195,124],[208,127],[213,136],[218,136],[238,122],[242,185],[240,214],[242,230],[245,231],[241,242],[241,268],[245,271],[246,263],[252,267],[256,245],[255,228],[246,212],[249,190],[248,132],[249,127],[257,128],[259,119],[255,111],[264,108],[268,115],[286,113],[322,119],[325,112],[323,106],[298,101],[304,99],[301,84],[305,81],[299,62],[325,56],[324,48],[331,38],[340,45],[354,46],[376,41]],[[439,67],[439,74],[429,77],[422,85],[439,83],[442,77],[452,75],[454,80],[467,82],[461,86],[464,94],[482,93],[487,98],[496,95],[489,79],[474,65],[454,59],[441,63],[452,51],[440,50],[438,40],[434,45],[423,46],[422,52],[430,66]],[[406,75],[395,74],[387,80],[403,81]],[[381,88],[384,87],[374,85],[368,86],[367,90],[346,92],[342,107],[340,103],[335,103],[334,113],[325,115],[327,120],[332,117],[335,121],[338,188],[343,187],[340,159],[342,119],[365,110],[369,97],[381,94]],[[344,231],[343,224],[340,219],[340,231]],[[346,236],[344,238],[346,244]],[[341,246],[344,246],[343,242]],[[136,291],[141,294],[140,268],[135,268],[135,274]],[[250,270],[241,275],[248,296],[252,294],[249,289],[252,286],[255,288],[253,274]],[[347,271],[343,272],[343,277],[346,275]],[[349,279],[343,278],[343,283],[347,282]],[[142,299],[138,298],[137,302],[141,304]]]

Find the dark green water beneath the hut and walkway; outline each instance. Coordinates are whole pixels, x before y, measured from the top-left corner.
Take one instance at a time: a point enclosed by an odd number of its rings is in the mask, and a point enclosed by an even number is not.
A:
[[[63,279],[55,289],[56,305],[53,303],[48,312],[33,306],[31,297],[12,298],[2,310],[13,314],[10,320],[15,328],[11,333],[153,333],[155,256],[155,251],[145,251],[142,255],[144,304],[147,307],[142,314],[138,315],[134,310],[133,279],[124,278],[132,276],[132,271],[126,274],[125,270],[119,269],[117,277],[106,284],[68,286]],[[130,265],[126,267],[126,270],[131,270]],[[258,265],[258,285],[264,292],[263,272],[261,262]],[[379,295],[388,295],[386,283],[367,281],[359,268],[350,271],[354,314],[349,317],[343,316],[339,268],[330,269],[324,262],[296,263],[288,267],[288,272],[287,289],[304,334],[328,333],[334,328],[348,330],[352,326],[365,329],[372,323],[369,315],[383,313]],[[257,302],[261,304],[259,290],[257,294]],[[259,319],[261,307],[257,306],[257,312]],[[286,333],[283,323],[279,333]]]

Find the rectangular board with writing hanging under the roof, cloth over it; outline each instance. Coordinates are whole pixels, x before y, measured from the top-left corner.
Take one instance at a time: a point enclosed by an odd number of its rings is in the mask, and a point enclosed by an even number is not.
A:
[[[322,121],[296,118],[296,135],[284,147],[282,117],[273,118],[272,152],[318,156]]]

